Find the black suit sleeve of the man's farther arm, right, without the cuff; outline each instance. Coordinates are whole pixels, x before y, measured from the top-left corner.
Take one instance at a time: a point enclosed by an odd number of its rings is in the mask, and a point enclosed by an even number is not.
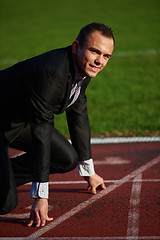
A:
[[[66,110],[66,115],[71,141],[78,153],[79,161],[92,158],[85,88],[82,89],[77,101]]]

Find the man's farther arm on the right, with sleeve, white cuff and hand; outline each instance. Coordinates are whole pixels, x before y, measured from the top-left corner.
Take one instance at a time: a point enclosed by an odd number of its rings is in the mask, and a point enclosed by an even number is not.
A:
[[[90,127],[87,113],[87,98],[85,89],[89,79],[84,80],[82,90],[77,101],[66,110],[71,141],[79,156],[79,175],[88,182],[88,190],[96,194],[96,188],[105,189],[103,178],[94,171],[90,145]],[[88,159],[88,160],[86,160]]]

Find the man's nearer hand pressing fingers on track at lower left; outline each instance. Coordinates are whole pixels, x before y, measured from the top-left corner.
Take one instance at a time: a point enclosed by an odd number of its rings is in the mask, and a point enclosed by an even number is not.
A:
[[[28,227],[35,225],[36,227],[44,226],[46,221],[52,221],[53,218],[48,217],[48,199],[37,198],[32,205],[30,218],[28,219]]]

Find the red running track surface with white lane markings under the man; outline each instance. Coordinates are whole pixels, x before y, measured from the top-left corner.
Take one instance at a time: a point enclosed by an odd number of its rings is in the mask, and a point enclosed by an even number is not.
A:
[[[83,181],[77,169],[52,175],[49,215],[54,220],[29,228],[24,218],[32,204],[30,185],[21,186],[17,208],[0,218],[0,239],[160,239],[160,142],[96,144],[92,152],[106,190],[89,194],[86,183],[77,183]]]

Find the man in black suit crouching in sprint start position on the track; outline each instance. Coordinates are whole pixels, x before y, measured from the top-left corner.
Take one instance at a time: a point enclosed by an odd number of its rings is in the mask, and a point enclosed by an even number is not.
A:
[[[49,51],[0,72],[0,214],[17,205],[16,187],[32,181],[28,226],[48,217],[49,174],[73,170],[88,189],[105,189],[94,171],[85,90],[114,49],[109,27],[83,27],[72,46]],[[72,145],[54,128],[54,114],[66,111]],[[8,146],[26,154],[8,159]]]

